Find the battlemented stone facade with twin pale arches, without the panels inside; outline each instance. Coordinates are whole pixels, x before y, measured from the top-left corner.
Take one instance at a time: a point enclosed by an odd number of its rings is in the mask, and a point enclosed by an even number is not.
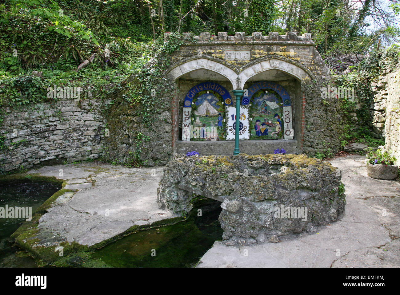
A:
[[[190,34],[184,35],[189,37]],[[168,40],[169,36],[170,33],[166,33],[164,40]],[[298,85],[295,97],[291,97],[296,100],[293,118],[296,120],[295,152],[315,153],[324,148],[320,144],[322,140],[330,143],[332,151],[340,148],[335,132],[339,132],[340,125],[332,120],[340,118],[337,102],[330,102],[331,108],[328,110],[323,109],[320,102],[320,87],[330,82],[330,72],[315,50],[310,34],[297,36],[295,32],[287,32],[286,35],[270,32],[268,36],[262,36],[260,32],[253,32],[251,36],[245,36],[244,32],[236,32],[234,36],[228,36],[220,32],[218,36],[201,33],[193,38],[197,41],[187,39],[179,50],[171,54],[174,63],[165,74],[173,82],[186,79],[186,74],[191,72],[192,80],[196,80],[193,79],[196,71],[204,69],[224,77],[232,88],[224,85],[231,92],[242,90],[246,83],[249,85],[264,80],[282,84],[280,80],[262,77],[268,71],[284,73]],[[192,81],[192,86],[207,80]],[[178,92],[172,96],[172,147],[176,151],[179,126],[182,126],[178,122],[183,107],[183,101],[180,100],[183,98],[182,95],[178,96]],[[316,112],[318,116],[314,116]],[[327,130],[329,132],[324,132]]]

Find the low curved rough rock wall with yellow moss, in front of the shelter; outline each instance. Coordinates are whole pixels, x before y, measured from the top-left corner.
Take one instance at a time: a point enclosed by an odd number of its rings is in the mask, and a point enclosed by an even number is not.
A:
[[[276,243],[280,236],[313,233],[342,217],[340,178],[338,168],[306,155],[175,155],[160,179],[158,203],[186,214],[196,195],[219,199],[226,245]]]

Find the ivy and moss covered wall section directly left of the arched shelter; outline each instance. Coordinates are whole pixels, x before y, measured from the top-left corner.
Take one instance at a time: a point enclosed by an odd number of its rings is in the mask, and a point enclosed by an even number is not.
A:
[[[105,161],[134,167],[149,165],[154,142],[159,140],[157,128],[161,110],[170,108],[174,91],[173,82],[165,76],[170,66],[170,54],[183,43],[184,37],[178,33],[171,34],[166,42],[162,38],[155,40],[143,60],[148,62],[136,68],[119,87],[116,99],[104,114],[108,118],[107,126],[110,126]],[[115,152],[122,142],[128,146],[124,156]]]

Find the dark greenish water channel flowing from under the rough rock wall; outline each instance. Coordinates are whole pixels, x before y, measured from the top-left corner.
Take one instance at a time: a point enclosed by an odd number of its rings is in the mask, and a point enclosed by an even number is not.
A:
[[[207,199],[195,205],[185,221],[133,233],[95,251],[92,257],[113,267],[193,267],[222,239],[220,204]],[[198,209],[202,209],[201,217]]]

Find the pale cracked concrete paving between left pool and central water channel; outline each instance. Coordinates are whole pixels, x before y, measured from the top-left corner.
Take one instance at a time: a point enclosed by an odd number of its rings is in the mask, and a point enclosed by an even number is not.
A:
[[[38,237],[43,245],[76,241],[91,246],[133,225],[150,225],[177,216],[158,208],[160,167],[80,163],[47,166],[29,173],[68,179],[64,189],[77,190],[58,197],[40,218]]]

